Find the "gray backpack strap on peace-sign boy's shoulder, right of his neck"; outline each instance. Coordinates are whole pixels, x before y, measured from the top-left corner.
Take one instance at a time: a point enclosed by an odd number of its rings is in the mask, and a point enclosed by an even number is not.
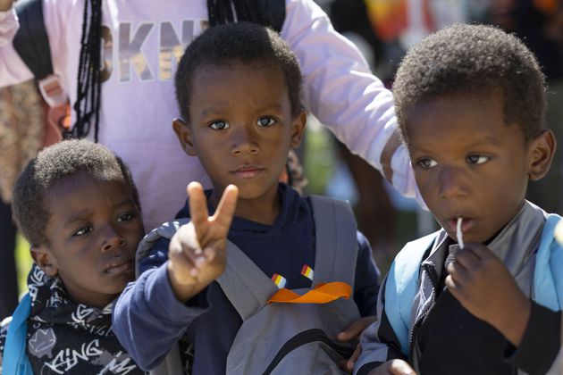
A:
[[[349,203],[330,196],[311,196],[315,218],[313,286],[342,281],[354,287],[357,226]]]

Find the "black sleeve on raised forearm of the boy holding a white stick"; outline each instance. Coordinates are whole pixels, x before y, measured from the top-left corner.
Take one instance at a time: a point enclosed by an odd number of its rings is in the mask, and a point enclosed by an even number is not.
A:
[[[532,301],[530,321],[520,346],[508,343],[505,358],[508,363],[531,375],[550,370],[561,347],[561,312],[553,312]]]

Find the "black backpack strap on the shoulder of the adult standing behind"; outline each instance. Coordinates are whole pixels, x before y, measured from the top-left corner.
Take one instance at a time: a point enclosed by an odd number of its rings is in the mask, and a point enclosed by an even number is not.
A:
[[[51,49],[43,19],[43,0],[21,0],[14,4],[20,29],[13,37],[13,48],[36,79],[53,73]]]

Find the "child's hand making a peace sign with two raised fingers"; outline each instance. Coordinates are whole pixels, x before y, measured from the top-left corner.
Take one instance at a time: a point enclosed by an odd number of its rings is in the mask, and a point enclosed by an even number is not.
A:
[[[188,185],[188,195],[191,221],[172,237],[167,266],[172,290],[181,302],[196,296],[225,270],[227,234],[239,189],[234,185],[226,187],[211,217],[199,183]]]

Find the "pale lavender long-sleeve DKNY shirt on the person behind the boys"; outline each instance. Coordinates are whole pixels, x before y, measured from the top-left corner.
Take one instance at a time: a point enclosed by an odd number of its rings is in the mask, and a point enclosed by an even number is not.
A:
[[[44,0],[53,69],[71,103],[76,100],[85,0]],[[173,75],[185,46],[207,21],[205,0],[103,2],[103,57],[99,143],[130,166],[139,188],[146,229],[169,221],[186,198],[186,185],[211,183],[197,157],[184,154],[172,131],[179,116]],[[0,87],[31,79],[14,51],[13,10],[0,12]],[[349,149],[382,171],[382,151],[397,129],[391,92],[371,74],[364,57],[341,37],[313,0],[286,0],[281,37],[304,75],[303,104]],[[90,130],[88,137],[93,137]],[[391,159],[392,184],[416,196],[408,153]]]

